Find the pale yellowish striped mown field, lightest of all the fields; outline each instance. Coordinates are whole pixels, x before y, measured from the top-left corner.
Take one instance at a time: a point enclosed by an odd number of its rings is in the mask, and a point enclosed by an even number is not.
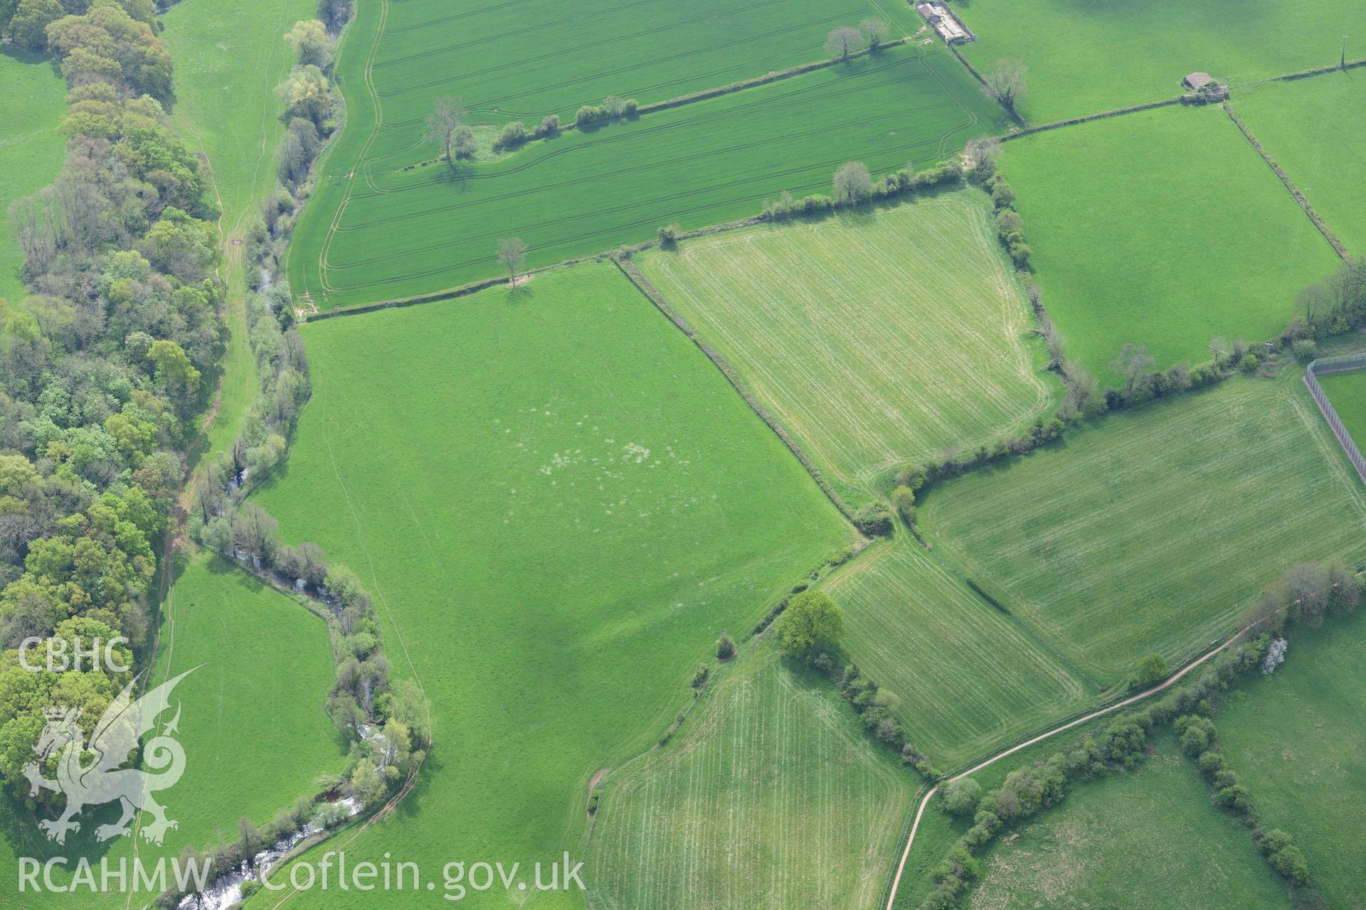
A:
[[[846,486],[1015,432],[1053,397],[977,191],[701,237],[639,266]]]

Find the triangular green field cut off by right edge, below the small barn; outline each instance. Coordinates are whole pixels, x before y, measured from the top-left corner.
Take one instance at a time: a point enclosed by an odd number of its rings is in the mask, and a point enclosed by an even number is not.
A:
[[[1361,71],[1274,82],[1233,109],[1350,251],[1366,252],[1366,86]]]

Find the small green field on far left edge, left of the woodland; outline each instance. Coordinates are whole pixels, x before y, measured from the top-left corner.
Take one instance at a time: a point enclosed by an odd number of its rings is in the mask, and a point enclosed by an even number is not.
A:
[[[52,183],[61,171],[67,83],[51,57],[0,45],[0,297],[19,303],[23,251],[10,224],[10,206]]]

